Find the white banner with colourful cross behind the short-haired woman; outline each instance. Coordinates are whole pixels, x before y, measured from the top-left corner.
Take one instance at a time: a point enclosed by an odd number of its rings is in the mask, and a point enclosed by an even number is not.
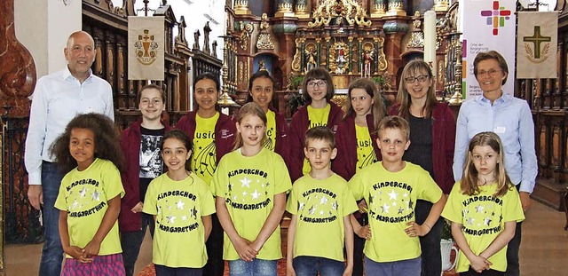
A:
[[[481,51],[498,51],[507,60],[509,76],[503,91],[513,94],[515,79],[515,0],[461,0],[460,28],[463,35],[463,76],[461,87],[464,97],[481,95],[473,60]]]

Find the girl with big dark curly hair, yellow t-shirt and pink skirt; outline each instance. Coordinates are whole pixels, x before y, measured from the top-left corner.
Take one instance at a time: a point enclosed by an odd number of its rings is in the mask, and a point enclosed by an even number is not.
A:
[[[118,232],[124,196],[119,138],[103,114],[80,114],[51,146],[61,180],[55,208],[66,254],[61,275],[125,275]]]

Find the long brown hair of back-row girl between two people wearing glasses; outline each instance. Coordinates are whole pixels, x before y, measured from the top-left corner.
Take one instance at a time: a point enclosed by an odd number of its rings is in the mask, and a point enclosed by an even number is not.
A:
[[[384,115],[386,114],[386,108],[384,107],[381,92],[376,89],[375,83],[367,78],[355,80],[349,85],[349,90],[347,91],[348,99],[347,101],[345,101],[346,112],[343,115],[343,119],[355,113],[353,106],[351,106],[351,91],[356,88],[365,90],[367,92],[367,95],[371,96],[371,98],[374,100],[373,105],[371,106],[371,114],[373,114],[373,127],[375,128],[375,130],[377,130],[379,128],[379,122],[381,122]]]

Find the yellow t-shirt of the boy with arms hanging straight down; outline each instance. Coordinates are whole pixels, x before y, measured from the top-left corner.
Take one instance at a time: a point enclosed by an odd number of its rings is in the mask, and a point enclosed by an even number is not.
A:
[[[334,174],[296,180],[286,210],[297,216],[294,257],[319,256],[343,262],[343,217],[358,209],[347,182]]]

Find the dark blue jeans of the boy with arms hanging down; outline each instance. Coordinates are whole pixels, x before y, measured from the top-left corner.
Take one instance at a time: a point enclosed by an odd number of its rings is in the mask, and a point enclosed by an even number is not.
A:
[[[292,262],[296,276],[341,276],[345,264],[320,256],[296,256]]]

